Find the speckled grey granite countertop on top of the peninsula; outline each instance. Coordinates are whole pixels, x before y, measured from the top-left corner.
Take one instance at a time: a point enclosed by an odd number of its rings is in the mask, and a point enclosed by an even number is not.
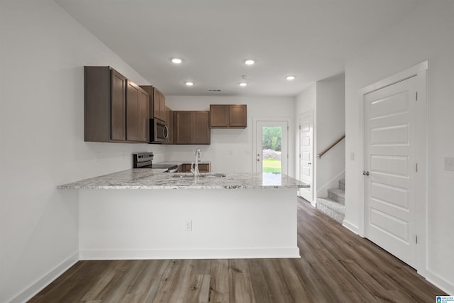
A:
[[[109,175],[59,185],[57,189],[279,189],[309,184],[281,174],[228,173],[226,177],[172,177],[176,173],[133,168]],[[192,175],[192,173],[178,173]]]

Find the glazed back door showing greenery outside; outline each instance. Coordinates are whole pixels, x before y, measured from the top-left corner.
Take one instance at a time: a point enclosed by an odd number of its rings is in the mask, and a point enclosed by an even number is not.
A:
[[[255,172],[287,175],[288,121],[255,121]]]

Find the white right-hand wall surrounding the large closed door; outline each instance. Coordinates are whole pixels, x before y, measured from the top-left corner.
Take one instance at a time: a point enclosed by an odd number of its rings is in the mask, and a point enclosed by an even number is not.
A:
[[[345,221],[360,231],[362,162],[350,153],[362,149],[358,90],[428,60],[428,197],[425,277],[454,294],[454,172],[444,170],[454,156],[454,2],[423,1],[402,23],[372,41],[345,65],[346,155]]]

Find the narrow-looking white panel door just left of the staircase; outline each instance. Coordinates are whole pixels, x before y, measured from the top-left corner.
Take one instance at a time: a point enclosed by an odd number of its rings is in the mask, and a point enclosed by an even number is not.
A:
[[[311,187],[299,189],[299,196],[314,201],[314,116],[299,119],[299,180]]]

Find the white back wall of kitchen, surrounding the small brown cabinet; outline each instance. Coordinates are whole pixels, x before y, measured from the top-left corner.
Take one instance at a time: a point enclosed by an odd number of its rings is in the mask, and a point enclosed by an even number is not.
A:
[[[209,110],[210,104],[247,104],[248,127],[211,129],[211,145],[167,145],[166,160],[192,160],[200,148],[202,160],[211,161],[214,172],[253,172],[253,119],[290,120],[289,138],[294,138],[294,98],[292,97],[206,97],[166,96],[166,105],[175,111]],[[289,140],[289,171],[294,176],[294,141]]]

